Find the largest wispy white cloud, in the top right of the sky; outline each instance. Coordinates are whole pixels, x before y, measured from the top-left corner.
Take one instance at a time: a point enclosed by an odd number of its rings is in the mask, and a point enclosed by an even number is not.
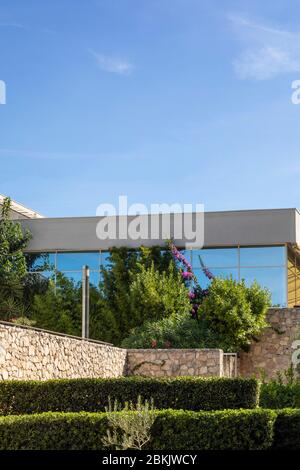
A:
[[[268,80],[281,74],[300,72],[300,32],[228,16],[244,44],[233,67],[240,79]]]

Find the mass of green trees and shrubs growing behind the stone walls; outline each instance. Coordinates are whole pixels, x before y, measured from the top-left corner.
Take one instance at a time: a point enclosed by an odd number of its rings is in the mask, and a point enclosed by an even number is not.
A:
[[[81,284],[61,273],[47,279],[46,256],[24,255],[30,233],[10,220],[6,199],[0,220],[0,319],[81,334]],[[266,325],[268,292],[257,284],[214,278],[199,286],[191,264],[172,244],[113,248],[102,280],[90,291],[90,336],[124,347],[246,349]],[[52,267],[53,268],[53,267]],[[30,273],[28,273],[30,271]]]

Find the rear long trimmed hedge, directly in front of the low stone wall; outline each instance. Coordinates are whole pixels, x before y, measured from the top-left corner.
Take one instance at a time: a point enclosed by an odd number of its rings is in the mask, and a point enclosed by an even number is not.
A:
[[[47,411],[104,411],[108,397],[136,402],[153,398],[158,409],[222,410],[255,408],[259,384],[255,379],[143,378],[0,381],[0,414]]]

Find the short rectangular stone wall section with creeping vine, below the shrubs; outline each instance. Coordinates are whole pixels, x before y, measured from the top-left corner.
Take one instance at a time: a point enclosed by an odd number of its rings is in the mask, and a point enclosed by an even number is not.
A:
[[[223,376],[221,349],[129,349],[128,375]]]

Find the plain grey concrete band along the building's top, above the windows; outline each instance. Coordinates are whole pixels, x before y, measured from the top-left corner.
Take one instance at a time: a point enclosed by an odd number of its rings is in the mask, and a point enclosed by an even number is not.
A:
[[[270,245],[297,243],[300,225],[296,223],[295,209],[273,209],[253,211],[206,212],[204,214],[204,246]],[[160,216],[156,223],[162,224]],[[166,237],[161,233],[157,240],[99,240],[96,236],[97,223],[101,217],[69,217],[23,220],[33,238],[30,251],[55,250],[106,250],[111,246],[137,247],[153,244],[163,245]],[[132,217],[128,218],[130,222]],[[171,218],[172,220],[172,218]],[[176,225],[176,224],[175,224]],[[150,232],[149,223],[149,232]],[[177,246],[184,247],[188,240],[174,235],[174,221],[171,236]]]

